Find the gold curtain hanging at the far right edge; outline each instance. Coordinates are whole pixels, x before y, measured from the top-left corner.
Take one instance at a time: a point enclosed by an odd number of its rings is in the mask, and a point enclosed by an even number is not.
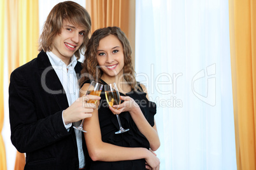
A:
[[[229,0],[229,25],[237,166],[256,169],[256,2]]]

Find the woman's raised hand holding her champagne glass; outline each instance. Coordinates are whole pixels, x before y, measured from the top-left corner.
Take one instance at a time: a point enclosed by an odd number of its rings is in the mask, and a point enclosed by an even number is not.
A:
[[[113,114],[120,114],[122,112],[136,112],[136,109],[140,109],[139,105],[129,96],[120,96],[120,100],[124,100],[120,105],[113,105],[110,110]]]

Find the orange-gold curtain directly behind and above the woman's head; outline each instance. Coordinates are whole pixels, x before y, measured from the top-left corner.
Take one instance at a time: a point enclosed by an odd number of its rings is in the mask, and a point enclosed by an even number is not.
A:
[[[135,0],[87,0],[86,9],[92,18],[92,32],[103,27],[120,27],[135,51]]]

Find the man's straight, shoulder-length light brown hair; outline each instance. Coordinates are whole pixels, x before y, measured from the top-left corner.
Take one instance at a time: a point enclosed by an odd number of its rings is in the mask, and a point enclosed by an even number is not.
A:
[[[55,5],[50,11],[43,26],[42,34],[39,38],[38,50],[52,51],[52,42],[57,34],[61,33],[62,22],[70,22],[75,26],[80,26],[85,30],[85,37],[80,48],[75,52],[76,58],[80,58],[80,53],[85,50],[85,45],[89,41],[91,28],[90,15],[80,4],[73,1],[65,1]]]

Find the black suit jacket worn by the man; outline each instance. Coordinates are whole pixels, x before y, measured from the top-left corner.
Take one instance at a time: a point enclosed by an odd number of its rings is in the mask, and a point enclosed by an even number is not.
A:
[[[78,62],[77,75],[81,69]],[[65,91],[44,51],[11,73],[11,142],[26,153],[25,169],[79,169],[75,129],[67,131],[62,121],[62,111],[68,107]]]

